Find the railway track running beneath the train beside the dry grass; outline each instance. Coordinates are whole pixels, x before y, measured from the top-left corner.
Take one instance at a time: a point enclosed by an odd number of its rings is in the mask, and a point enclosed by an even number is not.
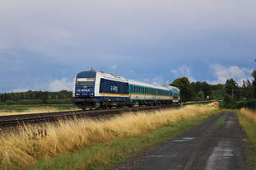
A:
[[[7,128],[12,126],[19,126],[22,124],[35,124],[42,122],[56,122],[59,119],[71,119],[74,117],[113,117],[117,114],[128,113],[128,112],[139,112],[157,110],[163,108],[179,108],[182,105],[198,104],[198,103],[212,103],[212,101],[202,101],[193,103],[181,103],[173,105],[157,105],[157,106],[144,106],[134,108],[110,108],[110,109],[99,109],[99,110],[82,110],[82,111],[68,111],[58,113],[30,113],[10,116],[0,116],[0,128]]]

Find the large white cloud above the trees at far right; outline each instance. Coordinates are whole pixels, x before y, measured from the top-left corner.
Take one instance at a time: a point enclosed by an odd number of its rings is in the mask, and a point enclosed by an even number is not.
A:
[[[238,85],[243,85],[243,80],[251,80],[251,72],[253,69],[244,67],[231,66],[225,67],[220,64],[212,65],[213,75],[216,76],[216,80],[210,81],[211,84],[225,84],[226,80],[234,79]]]

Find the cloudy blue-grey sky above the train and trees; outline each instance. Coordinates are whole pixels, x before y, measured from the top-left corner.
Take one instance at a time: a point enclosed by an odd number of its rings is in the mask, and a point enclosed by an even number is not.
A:
[[[255,0],[2,0],[0,93],[72,90],[95,70],[239,85],[256,62]]]

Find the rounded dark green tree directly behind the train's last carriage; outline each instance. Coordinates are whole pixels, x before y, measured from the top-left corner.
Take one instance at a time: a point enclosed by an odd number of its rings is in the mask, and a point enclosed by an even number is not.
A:
[[[170,85],[178,87],[180,90],[181,101],[190,101],[193,97],[193,87],[187,77],[174,80]]]

